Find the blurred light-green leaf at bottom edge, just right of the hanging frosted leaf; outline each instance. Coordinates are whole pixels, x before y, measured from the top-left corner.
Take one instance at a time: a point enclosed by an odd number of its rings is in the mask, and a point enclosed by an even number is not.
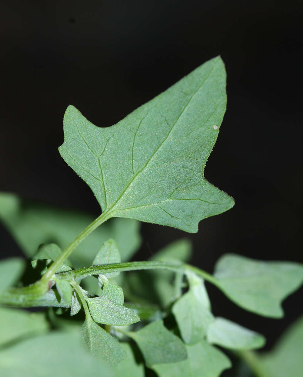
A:
[[[129,343],[120,343],[125,350],[127,357],[114,369],[117,377],[145,377],[144,364],[136,361],[134,350]],[[136,355],[137,356],[137,355]]]

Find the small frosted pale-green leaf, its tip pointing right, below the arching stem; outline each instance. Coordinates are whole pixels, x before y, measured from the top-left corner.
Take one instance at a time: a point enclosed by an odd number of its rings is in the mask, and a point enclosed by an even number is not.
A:
[[[139,316],[123,305],[119,305],[104,296],[86,299],[90,314],[98,323],[105,325],[124,326],[139,322]]]

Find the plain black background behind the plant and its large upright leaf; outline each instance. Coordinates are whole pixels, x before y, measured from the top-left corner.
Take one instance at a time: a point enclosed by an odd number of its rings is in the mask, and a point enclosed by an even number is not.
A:
[[[143,224],[136,259],[186,236],[193,264],[209,272],[226,252],[302,262],[302,13],[299,1],[1,2],[0,190],[98,215],[57,150],[66,107],[111,126],[220,54],[228,104],[205,175],[236,205],[197,234]],[[0,237],[5,255],[20,253],[2,227]],[[216,315],[264,333],[268,346],[302,312],[302,289],[273,320],[208,287]]]

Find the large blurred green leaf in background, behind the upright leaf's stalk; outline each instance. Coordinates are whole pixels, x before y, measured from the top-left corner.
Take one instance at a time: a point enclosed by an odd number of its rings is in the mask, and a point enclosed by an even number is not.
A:
[[[0,220],[24,253],[31,257],[41,244],[55,242],[62,249],[65,248],[94,217],[36,204],[14,194],[0,193]],[[70,256],[70,261],[75,268],[90,265],[100,244],[113,237],[124,262],[131,258],[140,245],[139,227],[140,223],[136,220],[111,219],[85,238]]]

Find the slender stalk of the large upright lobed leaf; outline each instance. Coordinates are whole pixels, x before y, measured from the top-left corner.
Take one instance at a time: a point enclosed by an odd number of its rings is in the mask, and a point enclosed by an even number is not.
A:
[[[41,281],[47,283],[56,273],[59,266],[64,263],[65,259],[75,250],[75,248],[90,234],[94,229],[99,227],[103,222],[109,218],[108,212],[102,213],[96,220],[94,220],[87,228],[85,228],[58,256],[58,258],[50,265],[49,269],[41,278]]]

